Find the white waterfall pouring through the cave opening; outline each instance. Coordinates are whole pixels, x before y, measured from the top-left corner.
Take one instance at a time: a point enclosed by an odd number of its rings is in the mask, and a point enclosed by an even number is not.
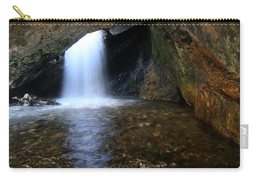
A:
[[[62,98],[69,102],[105,95],[107,55],[103,32],[86,34],[65,53]]]

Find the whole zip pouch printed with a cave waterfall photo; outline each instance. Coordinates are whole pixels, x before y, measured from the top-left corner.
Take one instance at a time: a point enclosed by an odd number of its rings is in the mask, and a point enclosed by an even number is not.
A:
[[[11,168],[238,168],[238,19],[9,21]]]

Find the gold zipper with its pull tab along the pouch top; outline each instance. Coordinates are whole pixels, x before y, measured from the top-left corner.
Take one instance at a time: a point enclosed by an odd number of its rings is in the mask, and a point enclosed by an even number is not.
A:
[[[10,22],[240,22],[239,19],[31,19],[29,15],[25,15],[17,6],[13,5],[12,7],[19,13],[20,18],[10,19]]]

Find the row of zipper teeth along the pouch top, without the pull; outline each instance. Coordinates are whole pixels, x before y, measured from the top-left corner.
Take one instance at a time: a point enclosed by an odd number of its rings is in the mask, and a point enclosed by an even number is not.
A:
[[[14,20],[10,19],[10,21],[47,21],[47,22],[133,22],[133,21],[143,21],[143,22],[155,22],[155,21],[162,21],[162,22],[240,22],[239,19],[31,19],[31,20]]]

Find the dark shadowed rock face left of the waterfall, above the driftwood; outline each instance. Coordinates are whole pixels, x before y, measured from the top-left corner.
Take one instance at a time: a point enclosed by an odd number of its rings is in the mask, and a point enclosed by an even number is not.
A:
[[[36,65],[27,76],[18,78],[16,88],[9,90],[9,96],[29,92],[33,95],[54,98],[60,95],[65,52],[53,59],[47,59]]]

